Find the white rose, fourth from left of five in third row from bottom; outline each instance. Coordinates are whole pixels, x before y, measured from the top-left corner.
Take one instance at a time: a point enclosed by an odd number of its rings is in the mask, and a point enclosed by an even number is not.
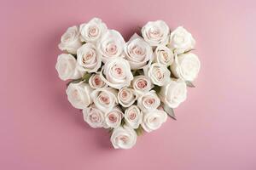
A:
[[[155,94],[155,92],[151,90],[147,94],[143,94],[137,99],[137,106],[142,111],[155,110],[160,106],[160,99],[157,94]]]

